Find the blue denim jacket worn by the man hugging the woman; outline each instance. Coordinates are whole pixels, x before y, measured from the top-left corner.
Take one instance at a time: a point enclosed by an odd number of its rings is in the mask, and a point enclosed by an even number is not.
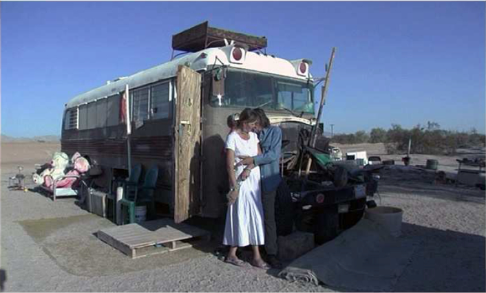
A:
[[[277,190],[282,177],[279,171],[280,152],[282,149],[282,129],[276,126],[264,128],[259,134],[262,155],[253,157],[255,165],[260,166],[262,191],[270,193]]]

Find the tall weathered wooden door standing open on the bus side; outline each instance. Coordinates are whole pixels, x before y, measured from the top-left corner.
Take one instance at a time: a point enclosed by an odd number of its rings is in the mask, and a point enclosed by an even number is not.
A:
[[[200,212],[201,75],[180,65],[174,129],[174,221]]]

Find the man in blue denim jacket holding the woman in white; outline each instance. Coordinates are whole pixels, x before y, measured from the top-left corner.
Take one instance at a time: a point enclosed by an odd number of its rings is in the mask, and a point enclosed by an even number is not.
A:
[[[260,166],[267,262],[273,268],[282,268],[282,263],[277,259],[277,228],[275,224],[275,196],[277,194],[277,187],[282,182],[282,177],[279,172],[282,129],[272,126],[262,109],[256,108],[253,111],[259,117],[255,132],[258,133],[258,139],[262,147],[262,155],[244,158],[239,164],[255,164],[256,166]]]

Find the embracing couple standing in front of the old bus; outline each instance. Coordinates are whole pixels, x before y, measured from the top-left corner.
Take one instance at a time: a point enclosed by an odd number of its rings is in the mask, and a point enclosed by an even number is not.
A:
[[[259,108],[244,109],[237,118],[229,118],[228,124],[231,132],[225,147],[230,191],[223,244],[231,247],[225,261],[246,265],[236,252],[238,247],[251,245],[251,265],[264,270],[281,268],[277,259],[275,195],[282,182],[282,130],[271,126]],[[260,254],[261,245],[265,246],[266,262]]]

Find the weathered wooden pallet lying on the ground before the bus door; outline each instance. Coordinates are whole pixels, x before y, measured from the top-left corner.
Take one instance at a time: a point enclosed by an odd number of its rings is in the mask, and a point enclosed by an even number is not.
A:
[[[209,241],[206,230],[175,224],[173,219],[159,219],[99,230],[96,235],[105,243],[132,259],[189,248]]]

